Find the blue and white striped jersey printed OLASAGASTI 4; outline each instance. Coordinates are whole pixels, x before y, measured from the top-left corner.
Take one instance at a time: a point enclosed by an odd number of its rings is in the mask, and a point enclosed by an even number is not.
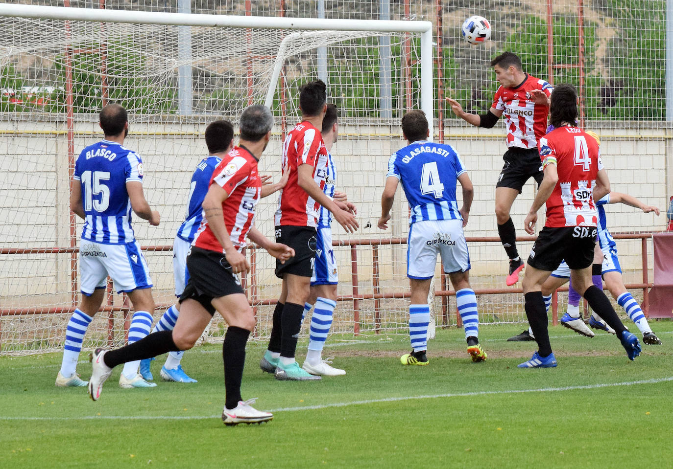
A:
[[[458,176],[466,172],[451,145],[418,140],[393,153],[388,176],[402,182],[411,216],[421,220],[462,220],[456,202]]]

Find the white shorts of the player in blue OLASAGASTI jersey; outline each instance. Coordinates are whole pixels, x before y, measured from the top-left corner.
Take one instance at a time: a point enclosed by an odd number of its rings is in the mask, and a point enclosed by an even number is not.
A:
[[[409,227],[406,246],[406,276],[427,280],[435,275],[437,254],[444,273],[470,269],[470,254],[462,220],[423,220]]]

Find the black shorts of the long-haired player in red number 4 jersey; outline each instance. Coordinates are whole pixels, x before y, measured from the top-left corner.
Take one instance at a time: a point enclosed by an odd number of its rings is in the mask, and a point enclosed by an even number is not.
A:
[[[586,269],[594,262],[596,226],[545,226],[535,240],[528,264],[540,270],[555,271],[565,259],[573,270]]]

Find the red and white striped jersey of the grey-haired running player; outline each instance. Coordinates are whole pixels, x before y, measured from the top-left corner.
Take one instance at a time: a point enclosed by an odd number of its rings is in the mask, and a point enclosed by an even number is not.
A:
[[[211,185],[222,187],[229,196],[222,202],[224,223],[229,239],[240,251],[246,245],[246,236],[254,222],[254,208],[262,193],[262,180],[257,172],[257,159],[240,146],[234,146],[215,167]],[[205,214],[192,245],[223,253],[215,234],[208,226]]]

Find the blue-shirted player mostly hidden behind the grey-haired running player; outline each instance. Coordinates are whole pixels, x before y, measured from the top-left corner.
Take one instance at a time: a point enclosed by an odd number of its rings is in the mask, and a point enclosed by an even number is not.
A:
[[[203,220],[203,199],[206,196],[208,187],[213,177],[215,167],[219,165],[222,158],[232,149],[234,139],[234,126],[226,120],[216,120],[206,127],[205,140],[208,147],[209,156],[202,159],[192,174],[189,185],[189,198],[187,202],[187,212],[184,222],[178,228],[176,237],[173,241],[173,277],[175,282],[175,295],[180,298],[184,287],[189,280],[187,271],[187,253],[194,237],[201,226]],[[282,189],[287,182],[287,175],[281,178],[278,183],[270,183],[271,176],[262,176],[262,197],[269,196],[273,192]],[[170,306],[164,315],[157,321],[152,332],[172,331],[178,321],[180,314],[180,304]],[[207,329],[206,332],[207,333]],[[172,351],[166,357],[166,364],[162,366],[160,376],[165,381],[174,381],[182,383],[194,383],[197,380],[190,378],[184,370],[180,361],[184,351]],[[153,358],[144,359],[140,364],[140,373],[145,380],[153,380],[150,371],[150,363]]]

